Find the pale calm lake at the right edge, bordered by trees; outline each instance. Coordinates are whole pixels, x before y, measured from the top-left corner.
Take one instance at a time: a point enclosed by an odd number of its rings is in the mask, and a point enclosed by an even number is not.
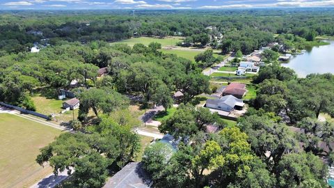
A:
[[[292,68],[299,77],[305,77],[311,73],[334,74],[334,40],[326,40],[326,42],[331,44],[305,49],[304,54],[292,56],[289,63],[282,63],[282,65]]]

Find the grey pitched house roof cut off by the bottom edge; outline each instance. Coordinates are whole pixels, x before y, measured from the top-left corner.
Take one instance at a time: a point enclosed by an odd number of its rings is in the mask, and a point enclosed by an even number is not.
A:
[[[140,187],[149,188],[153,184],[148,173],[143,169],[143,163],[130,162],[106,181],[104,188],[110,187]]]

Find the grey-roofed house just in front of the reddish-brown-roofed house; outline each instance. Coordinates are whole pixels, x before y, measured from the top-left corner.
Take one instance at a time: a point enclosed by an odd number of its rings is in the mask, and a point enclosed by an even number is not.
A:
[[[210,109],[218,109],[222,111],[232,111],[234,109],[242,109],[244,102],[233,95],[226,95],[219,99],[208,99],[205,106]]]

